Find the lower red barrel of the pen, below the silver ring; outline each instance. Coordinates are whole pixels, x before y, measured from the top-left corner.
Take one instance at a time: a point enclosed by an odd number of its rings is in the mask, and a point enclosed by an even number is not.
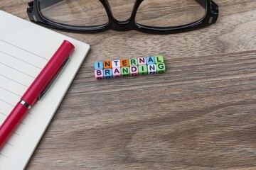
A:
[[[17,103],[14,109],[9,113],[0,127],[0,149],[4,146],[6,140],[11,136],[12,132],[21,122],[28,112],[28,108],[21,103]]]

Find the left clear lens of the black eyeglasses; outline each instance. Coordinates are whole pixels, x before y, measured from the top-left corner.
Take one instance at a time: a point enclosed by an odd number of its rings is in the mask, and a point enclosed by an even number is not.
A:
[[[98,0],[40,0],[39,10],[44,18],[68,26],[97,26],[108,22],[104,6]]]

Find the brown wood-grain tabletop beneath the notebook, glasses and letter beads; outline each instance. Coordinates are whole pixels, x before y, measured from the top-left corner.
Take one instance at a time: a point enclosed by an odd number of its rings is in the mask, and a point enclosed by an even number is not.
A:
[[[28,20],[27,2],[0,8]],[[256,169],[256,1],[215,2],[188,33],[58,31],[92,48],[26,168]],[[156,54],[165,74],[94,78],[95,61]]]

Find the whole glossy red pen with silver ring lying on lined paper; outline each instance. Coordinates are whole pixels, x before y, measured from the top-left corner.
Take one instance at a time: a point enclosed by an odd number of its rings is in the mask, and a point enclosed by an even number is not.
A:
[[[73,52],[74,48],[73,44],[68,42],[68,40],[64,40],[31,86],[28,87],[25,94],[21,97],[21,100],[16,104],[0,127],[0,149],[4,146],[6,140],[9,139],[12,132],[14,132],[31,106],[45,94],[55,77],[57,77],[61,69],[63,69],[70,59],[70,54]]]

